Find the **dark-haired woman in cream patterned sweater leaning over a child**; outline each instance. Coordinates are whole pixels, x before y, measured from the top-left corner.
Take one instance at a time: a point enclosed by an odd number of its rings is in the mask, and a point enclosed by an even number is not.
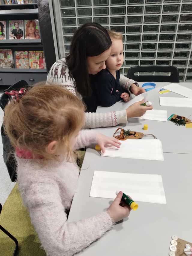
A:
[[[105,61],[110,56],[111,45],[107,30],[100,24],[82,25],[73,35],[69,55],[52,65],[47,81],[60,83],[81,100],[90,97],[90,75],[95,75],[106,68]],[[122,75],[120,84],[134,95],[145,92],[134,80]],[[95,102],[92,104],[94,105]],[[123,111],[85,113],[85,127],[116,126],[119,123],[127,123],[127,118],[142,116],[147,110],[152,109],[144,108],[140,104],[137,102]]]

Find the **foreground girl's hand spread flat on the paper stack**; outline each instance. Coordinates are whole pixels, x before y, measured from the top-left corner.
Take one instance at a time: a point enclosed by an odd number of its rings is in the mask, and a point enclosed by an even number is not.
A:
[[[110,145],[115,146],[116,148],[120,148],[119,145],[121,145],[121,142],[119,142],[118,139],[114,137],[107,137],[102,133],[97,134],[97,143],[101,148],[101,151],[105,153],[105,148],[107,148]]]

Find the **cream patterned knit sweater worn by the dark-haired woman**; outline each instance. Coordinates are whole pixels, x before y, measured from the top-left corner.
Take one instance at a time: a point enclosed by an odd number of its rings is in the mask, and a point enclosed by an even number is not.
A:
[[[82,96],[79,94],[79,92],[77,92],[75,80],[69,74],[69,69],[67,67],[65,58],[56,61],[52,65],[49,74],[47,75],[47,81],[60,83],[82,100]],[[136,82],[123,75],[120,75],[120,85],[124,89],[129,91],[129,88],[133,83]],[[85,113],[85,128],[116,126],[119,123],[127,123],[127,114],[125,110],[112,111],[108,113]]]

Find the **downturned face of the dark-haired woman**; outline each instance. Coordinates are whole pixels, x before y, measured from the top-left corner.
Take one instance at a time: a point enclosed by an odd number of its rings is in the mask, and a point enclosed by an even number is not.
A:
[[[91,75],[96,75],[102,69],[105,69],[105,61],[109,58],[111,53],[111,47],[105,52],[98,56],[87,57],[87,69],[88,73]]]

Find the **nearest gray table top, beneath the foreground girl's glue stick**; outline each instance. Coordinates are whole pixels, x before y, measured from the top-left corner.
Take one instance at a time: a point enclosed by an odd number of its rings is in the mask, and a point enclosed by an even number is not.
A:
[[[188,154],[164,153],[164,161],[149,161],[101,157],[98,151],[87,149],[69,222],[97,215],[111,204],[111,199],[89,197],[95,170],[161,174],[167,204],[139,202],[129,218],[78,255],[168,256],[172,235],[191,242],[191,165]]]

